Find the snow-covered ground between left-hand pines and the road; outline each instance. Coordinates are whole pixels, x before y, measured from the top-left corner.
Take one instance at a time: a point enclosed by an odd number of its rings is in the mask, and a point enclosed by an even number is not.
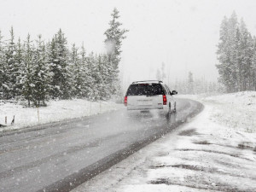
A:
[[[0,101],[0,131],[15,130],[32,125],[86,117],[124,108],[115,102],[89,102],[82,99],[50,101],[45,108],[24,108],[15,102]],[[15,116],[15,124],[11,125]],[[7,124],[5,124],[7,117]]]

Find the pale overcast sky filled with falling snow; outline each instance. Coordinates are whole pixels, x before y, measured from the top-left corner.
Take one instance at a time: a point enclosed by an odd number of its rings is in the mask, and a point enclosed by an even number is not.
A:
[[[87,51],[102,53],[103,33],[113,8],[130,30],[123,42],[121,70],[125,82],[155,79],[156,69],[166,64],[170,81],[197,78],[217,81],[215,64],[218,32],[224,15],[233,10],[256,35],[254,0],[0,0],[0,30],[4,39],[14,26],[15,38],[45,40],[62,29],[69,44],[84,42]],[[167,80],[167,79],[166,79]]]

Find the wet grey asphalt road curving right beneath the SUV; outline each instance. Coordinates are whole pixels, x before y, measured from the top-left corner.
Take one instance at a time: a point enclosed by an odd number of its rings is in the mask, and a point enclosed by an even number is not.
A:
[[[177,100],[177,113],[125,109],[0,135],[0,191],[69,191],[172,131],[202,109]]]

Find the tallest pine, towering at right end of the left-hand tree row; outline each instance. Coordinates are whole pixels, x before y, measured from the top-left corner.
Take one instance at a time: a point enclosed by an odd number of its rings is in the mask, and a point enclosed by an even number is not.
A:
[[[120,26],[122,24],[118,21],[119,19],[119,11],[114,8],[112,13],[112,20],[109,22],[109,28],[104,34],[106,35],[105,44],[107,48],[108,54],[108,65],[109,65],[109,73],[112,77],[109,84],[111,86],[109,89],[111,93],[114,95],[120,89],[119,85],[119,61],[121,60],[121,45],[122,41],[126,38],[125,32],[128,32],[126,29],[121,29]]]

